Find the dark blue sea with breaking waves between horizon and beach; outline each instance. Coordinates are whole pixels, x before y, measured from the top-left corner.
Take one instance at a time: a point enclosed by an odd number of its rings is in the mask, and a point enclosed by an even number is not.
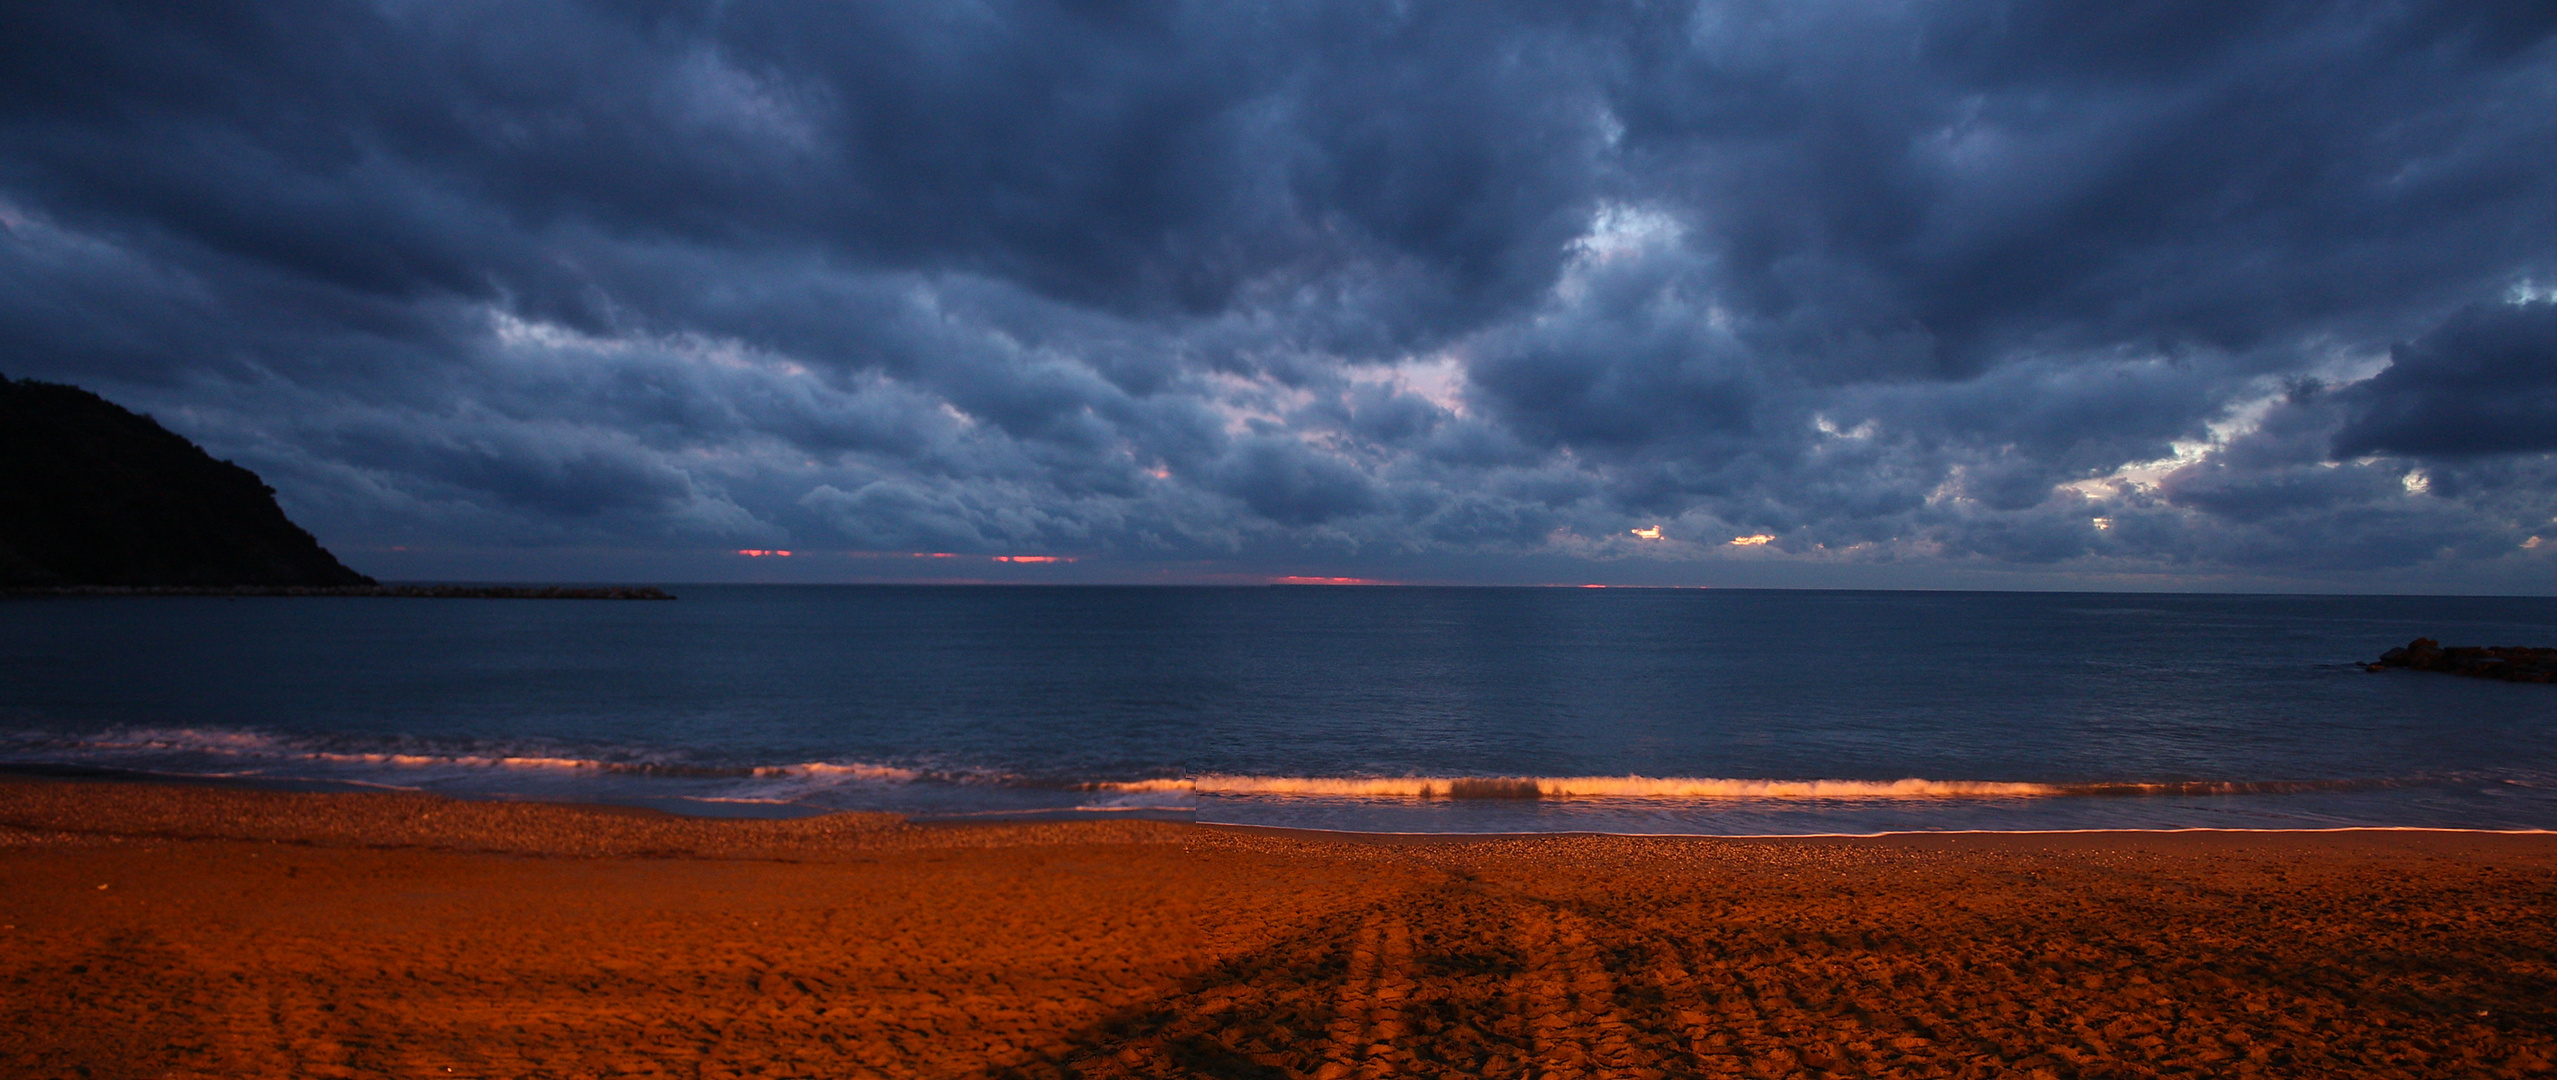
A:
[[[0,601],[0,765],[1391,832],[2557,827],[2552,599],[690,586]]]

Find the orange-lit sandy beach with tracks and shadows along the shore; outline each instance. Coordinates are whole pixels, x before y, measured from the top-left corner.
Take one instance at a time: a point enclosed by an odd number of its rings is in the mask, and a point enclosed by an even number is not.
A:
[[[2552,870],[0,781],[0,1075],[2547,1075]]]

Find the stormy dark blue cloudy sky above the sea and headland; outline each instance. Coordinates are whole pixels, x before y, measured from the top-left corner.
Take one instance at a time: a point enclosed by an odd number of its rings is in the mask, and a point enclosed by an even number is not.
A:
[[[384,578],[2547,594],[2557,8],[8,5],[0,374]]]

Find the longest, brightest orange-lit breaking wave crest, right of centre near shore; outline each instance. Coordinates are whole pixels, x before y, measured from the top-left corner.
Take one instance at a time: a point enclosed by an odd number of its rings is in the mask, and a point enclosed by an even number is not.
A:
[[[1680,775],[1194,775],[1089,783],[1089,791],[1189,791],[1199,796],[1335,798],[2056,798],[2056,796],[2255,796],[2350,791],[2386,781],[1734,781]]]

